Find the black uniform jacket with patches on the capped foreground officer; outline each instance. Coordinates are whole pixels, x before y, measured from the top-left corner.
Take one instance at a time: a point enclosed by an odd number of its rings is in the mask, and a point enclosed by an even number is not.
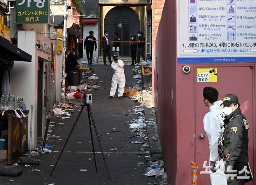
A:
[[[225,118],[224,124],[224,155],[230,154],[230,165],[235,162],[248,162],[248,129],[247,119],[242,115],[240,108]],[[228,161],[224,157],[224,161]]]

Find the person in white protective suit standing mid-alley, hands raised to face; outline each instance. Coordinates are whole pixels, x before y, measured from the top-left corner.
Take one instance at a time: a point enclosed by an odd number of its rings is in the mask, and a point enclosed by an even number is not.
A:
[[[111,67],[114,70],[114,75],[112,77],[109,99],[113,98],[116,94],[117,82],[118,82],[118,98],[122,99],[124,94],[124,86],[125,86],[124,63],[122,60],[118,59],[118,56],[116,54],[114,54],[113,58],[114,58],[114,62],[112,62]]]

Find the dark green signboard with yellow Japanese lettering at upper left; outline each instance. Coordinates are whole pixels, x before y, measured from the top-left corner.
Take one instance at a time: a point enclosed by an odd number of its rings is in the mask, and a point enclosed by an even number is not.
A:
[[[16,0],[16,23],[48,24],[49,0]]]

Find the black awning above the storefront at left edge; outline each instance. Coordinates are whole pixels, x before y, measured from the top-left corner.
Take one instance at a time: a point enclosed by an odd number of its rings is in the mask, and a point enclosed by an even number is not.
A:
[[[9,60],[31,62],[32,56],[0,37],[0,53],[9,56]]]

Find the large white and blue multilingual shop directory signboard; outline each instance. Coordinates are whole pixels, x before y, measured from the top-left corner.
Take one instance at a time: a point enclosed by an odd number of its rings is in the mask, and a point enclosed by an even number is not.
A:
[[[256,62],[255,0],[177,0],[177,5],[178,63]]]

